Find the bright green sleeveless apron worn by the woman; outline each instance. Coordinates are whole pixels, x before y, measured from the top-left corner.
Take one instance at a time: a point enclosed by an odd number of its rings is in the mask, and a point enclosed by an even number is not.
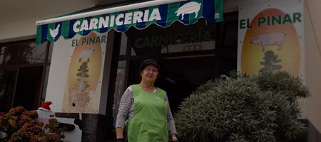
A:
[[[167,102],[165,91],[146,92],[131,85],[135,111],[126,121],[128,142],[168,142]]]

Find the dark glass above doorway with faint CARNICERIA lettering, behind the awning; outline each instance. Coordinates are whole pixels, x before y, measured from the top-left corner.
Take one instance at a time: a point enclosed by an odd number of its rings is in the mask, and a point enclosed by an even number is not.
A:
[[[151,25],[141,31],[131,28],[126,32],[131,37],[132,56],[215,50],[215,23],[203,19],[189,26],[175,22],[168,28]]]

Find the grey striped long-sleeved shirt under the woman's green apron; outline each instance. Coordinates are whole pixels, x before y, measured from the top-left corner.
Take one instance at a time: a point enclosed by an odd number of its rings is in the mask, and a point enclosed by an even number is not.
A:
[[[154,90],[156,92],[156,89]],[[173,119],[172,111],[170,111],[170,106],[168,102],[168,97],[165,94],[165,101],[167,102],[167,121],[170,126],[170,135],[173,133],[177,134],[175,128],[175,122]],[[128,87],[125,92],[123,92],[123,97],[121,97],[121,103],[119,104],[117,119],[116,119],[116,128],[124,128],[125,121],[131,119],[135,110],[135,102],[133,99],[133,89]]]

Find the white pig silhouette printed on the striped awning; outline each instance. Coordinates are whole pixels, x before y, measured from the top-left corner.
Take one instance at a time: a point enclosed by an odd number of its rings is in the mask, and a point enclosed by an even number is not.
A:
[[[175,11],[176,16],[179,16],[180,14],[182,14],[182,18],[181,20],[183,20],[184,18],[184,14],[185,13],[195,13],[195,18],[198,17],[198,11],[200,11],[200,5],[197,2],[189,2],[187,4],[184,4],[183,6],[180,6],[180,8],[178,8],[177,11]]]

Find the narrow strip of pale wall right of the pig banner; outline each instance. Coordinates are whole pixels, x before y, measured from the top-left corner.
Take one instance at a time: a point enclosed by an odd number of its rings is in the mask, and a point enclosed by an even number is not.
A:
[[[305,100],[304,118],[321,132],[321,1],[305,0],[305,83],[312,94]]]

